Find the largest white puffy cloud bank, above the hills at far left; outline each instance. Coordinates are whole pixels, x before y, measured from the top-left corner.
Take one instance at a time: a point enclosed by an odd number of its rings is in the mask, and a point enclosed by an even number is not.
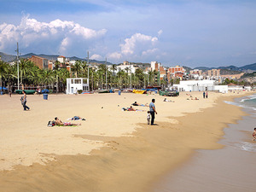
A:
[[[75,48],[84,49],[84,44],[93,43],[104,37],[106,32],[106,29],[96,31],[67,20],[40,22],[26,15],[18,26],[0,25],[0,49],[13,51],[16,42],[19,42],[20,49],[27,52],[40,48],[38,51],[46,53],[75,54]]]

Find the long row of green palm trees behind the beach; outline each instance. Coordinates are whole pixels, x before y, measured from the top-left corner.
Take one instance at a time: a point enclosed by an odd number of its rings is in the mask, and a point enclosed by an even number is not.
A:
[[[1,85],[9,90],[18,88],[18,65],[10,65],[0,61]],[[168,84],[166,79],[160,80],[159,73],[149,71],[143,73],[143,69],[138,67],[135,73],[131,73],[130,67],[118,70],[117,65],[108,67],[101,64],[97,67],[90,67],[86,61],[76,61],[71,67],[71,72],[66,67],[61,67],[61,62],[55,61],[55,67],[51,69],[40,69],[32,61],[20,59],[19,61],[19,81],[20,89],[32,89],[37,87],[53,90],[55,92],[65,92],[67,78],[88,78],[90,90],[98,89],[142,89],[147,86]],[[170,82],[173,83],[173,82]],[[21,88],[22,87],[22,88]]]

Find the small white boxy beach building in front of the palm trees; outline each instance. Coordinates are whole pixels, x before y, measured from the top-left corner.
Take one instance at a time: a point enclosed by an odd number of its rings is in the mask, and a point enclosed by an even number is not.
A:
[[[68,78],[66,94],[76,94],[78,90],[89,91],[89,79]]]

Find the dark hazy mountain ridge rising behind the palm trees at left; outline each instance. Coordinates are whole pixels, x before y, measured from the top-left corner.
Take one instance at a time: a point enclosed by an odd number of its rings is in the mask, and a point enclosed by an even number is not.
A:
[[[40,57],[43,57],[45,59],[48,59],[48,60],[53,60],[53,61],[56,61],[58,56],[59,55],[44,55],[44,54],[34,54],[34,53],[28,53],[26,55],[20,55],[20,58],[31,58],[32,55],[36,55],[36,56],[40,56]],[[15,55],[8,55],[8,54],[5,54],[3,52],[0,52],[0,56],[2,58],[3,61],[5,62],[11,62],[11,61],[15,61],[17,56]],[[72,57],[67,57],[69,59],[69,61],[72,61],[72,60],[80,60],[80,61],[87,61],[87,59],[81,59],[77,56],[72,56]],[[90,63],[94,63],[94,64],[106,64],[106,61],[96,61],[96,60],[90,60]],[[113,63],[111,62],[108,62],[107,61],[107,64],[108,65],[113,65]]]

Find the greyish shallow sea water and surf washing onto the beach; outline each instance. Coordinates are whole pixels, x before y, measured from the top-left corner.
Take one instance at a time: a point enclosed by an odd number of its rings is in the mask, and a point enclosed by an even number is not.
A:
[[[154,192],[255,192],[256,191],[256,94],[226,102],[248,115],[224,128],[219,143],[224,148],[197,150],[192,160],[170,172],[154,186]]]

